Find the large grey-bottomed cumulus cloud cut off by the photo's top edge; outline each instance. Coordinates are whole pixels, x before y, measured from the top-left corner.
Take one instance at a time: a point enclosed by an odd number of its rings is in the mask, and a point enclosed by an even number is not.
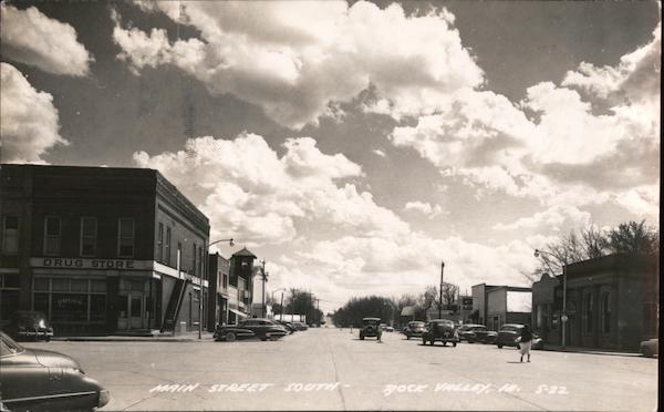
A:
[[[164,30],[125,29],[116,18],[118,58],[134,72],[174,64],[212,93],[231,93],[289,127],[315,124],[371,85],[395,117],[430,112],[437,100],[484,82],[446,10],[406,16],[345,2],[139,2],[198,29],[200,39],[169,43]]]

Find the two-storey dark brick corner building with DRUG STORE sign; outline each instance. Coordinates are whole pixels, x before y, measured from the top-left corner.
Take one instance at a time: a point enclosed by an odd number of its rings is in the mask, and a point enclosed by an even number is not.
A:
[[[0,319],[55,333],[197,327],[209,222],[158,172],[0,166]]]

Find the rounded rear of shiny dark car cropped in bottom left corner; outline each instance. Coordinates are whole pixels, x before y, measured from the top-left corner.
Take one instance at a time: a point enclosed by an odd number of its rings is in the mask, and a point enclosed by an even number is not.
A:
[[[108,391],[62,353],[25,349],[0,332],[0,388],[9,410],[92,410],[108,403]]]

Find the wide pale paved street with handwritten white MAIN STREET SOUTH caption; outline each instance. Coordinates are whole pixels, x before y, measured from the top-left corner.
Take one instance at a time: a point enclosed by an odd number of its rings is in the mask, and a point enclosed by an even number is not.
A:
[[[111,390],[104,410],[654,411],[657,361],[310,329],[276,342],[50,342]]]

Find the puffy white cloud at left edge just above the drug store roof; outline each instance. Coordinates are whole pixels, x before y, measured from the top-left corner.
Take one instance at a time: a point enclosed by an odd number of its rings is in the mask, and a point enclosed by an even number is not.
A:
[[[0,63],[0,145],[4,163],[45,163],[41,157],[55,145],[69,144],[59,130],[53,96],[37,91],[21,72]]]

